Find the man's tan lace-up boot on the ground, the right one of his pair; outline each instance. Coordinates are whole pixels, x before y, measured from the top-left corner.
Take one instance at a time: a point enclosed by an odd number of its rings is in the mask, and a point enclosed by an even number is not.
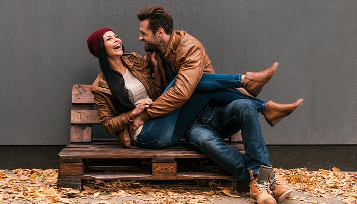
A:
[[[277,202],[284,200],[294,190],[289,187],[288,182],[276,173],[273,173],[270,179],[270,189],[274,192]]]

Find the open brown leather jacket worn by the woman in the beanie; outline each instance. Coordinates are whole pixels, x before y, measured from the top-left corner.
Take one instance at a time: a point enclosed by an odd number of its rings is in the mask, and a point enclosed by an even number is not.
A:
[[[128,70],[145,86],[149,97],[155,100],[164,89],[154,83],[154,69],[148,65],[144,58],[135,53],[125,53],[121,60]],[[110,133],[116,133],[119,144],[122,147],[132,148],[127,127],[133,120],[129,119],[129,112],[119,112],[113,104],[113,96],[108,87],[103,73],[92,84],[91,92],[94,94],[94,101],[98,105],[99,120],[103,123],[104,129]]]

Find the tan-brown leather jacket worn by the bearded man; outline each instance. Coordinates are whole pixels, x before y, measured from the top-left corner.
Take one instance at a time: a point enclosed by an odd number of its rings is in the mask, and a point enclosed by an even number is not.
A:
[[[205,47],[193,36],[185,31],[173,31],[165,53],[166,59],[177,73],[175,85],[162,94],[153,104],[140,114],[146,121],[171,113],[180,108],[190,99],[201,80],[203,73],[214,73],[211,60],[208,58]],[[162,77],[165,80],[165,72],[159,55],[155,55],[158,61]],[[147,63],[151,62],[149,54],[145,56]],[[165,87],[167,84],[165,84]]]

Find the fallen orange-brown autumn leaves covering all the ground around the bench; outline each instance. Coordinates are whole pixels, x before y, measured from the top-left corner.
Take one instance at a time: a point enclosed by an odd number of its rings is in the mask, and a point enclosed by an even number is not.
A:
[[[331,170],[308,171],[306,168],[274,169],[281,174],[295,191],[308,192],[308,197],[291,195],[289,199],[318,204],[310,197],[329,199],[332,196],[346,204],[357,204],[357,173]],[[210,203],[227,195],[238,194],[234,181],[197,180],[168,181],[84,181],[82,191],[57,188],[57,169],[0,170],[0,203],[89,203],[83,199],[98,199],[96,203],[116,203],[113,199],[127,197],[123,203]],[[131,200],[132,198],[135,200]],[[82,199],[82,200],[81,200]],[[22,201],[22,202],[20,202]]]

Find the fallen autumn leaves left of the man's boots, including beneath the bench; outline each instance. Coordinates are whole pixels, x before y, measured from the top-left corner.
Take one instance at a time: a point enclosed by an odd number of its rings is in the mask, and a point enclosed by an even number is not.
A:
[[[135,196],[138,200],[124,203],[209,203],[224,194],[239,197],[231,181],[228,187],[215,181],[197,181],[191,188],[182,184],[170,187],[165,184],[151,184],[145,181],[84,181],[83,190],[57,188],[57,169],[15,169],[0,170],[0,203],[24,201],[25,203],[89,203],[78,199],[99,199],[97,203],[108,202],[115,197]],[[177,184],[177,182],[176,182]],[[174,185],[173,185],[174,186]],[[176,185],[178,186],[178,185]],[[104,201],[103,201],[104,200]]]

